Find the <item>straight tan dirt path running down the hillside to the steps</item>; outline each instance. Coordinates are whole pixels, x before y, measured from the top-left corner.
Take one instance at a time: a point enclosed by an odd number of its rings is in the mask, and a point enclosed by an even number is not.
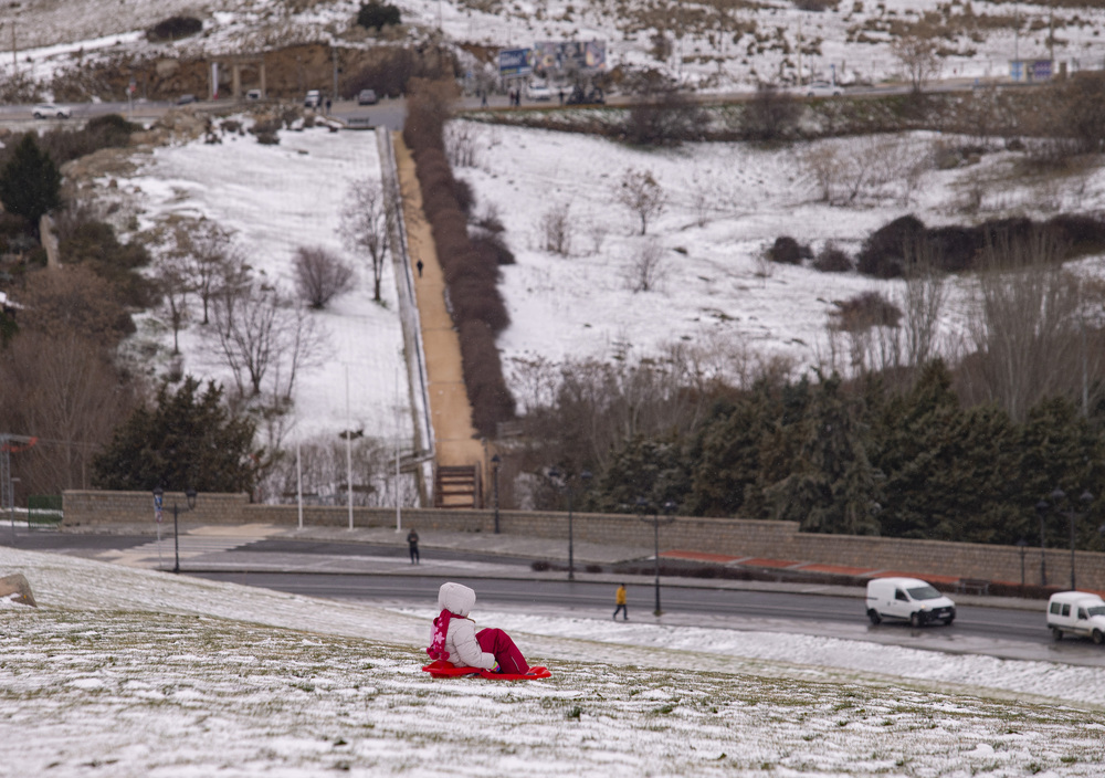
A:
[[[439,465],[476,465],[483,472],[484,449],[472,427],[472,407],[461,368],[461,340],[445,308],[445,280],[438,263],[430,225],[422,215],[422,190],[414,159],[400,133],[393,134],[396,165],[403,197],[414,296],[422,324],[422,345],[430,382],[430,423]],[[418,262],[422,261],[422,273]]]

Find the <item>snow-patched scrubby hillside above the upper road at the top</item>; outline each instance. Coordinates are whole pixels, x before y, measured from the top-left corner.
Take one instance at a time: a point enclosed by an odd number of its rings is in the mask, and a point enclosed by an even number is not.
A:
[[[86,57],[120,51],[155,56],[243,53],[306,41],[370,45],[348,28],[356,0],[218,0],[198,9],[185,0],[31,0],[12,6],[18,69],[49,80]],[[472,46],[525,48],[540,41],[607,42],[609,69],[657,69],[685,86],[747,90],[759,81],[835,76],[841,83],[902,77],[891,43],[903,24],[926,20],[943,30],[941,77],[999,78],[1010,59],[1054,57],[1070,70],[1099,67],[1105,41],[1097,3],[944,3],[938,0],[789,0],[723,3],[621,3],[548,0],[537,3],[397,0],[403,22],[424,39],[439,29],[448,41]],[[196,14],[201,36],[150,44],[143,31],[172,14]],[[659,42],[657,31],[666,41]],[[9,30],[6,29],[7,44]],[[801,54],[799,54],[801,51]],[[471,66],[477,66],[474,61]],[[11,57],[0,70],[11,72]]]

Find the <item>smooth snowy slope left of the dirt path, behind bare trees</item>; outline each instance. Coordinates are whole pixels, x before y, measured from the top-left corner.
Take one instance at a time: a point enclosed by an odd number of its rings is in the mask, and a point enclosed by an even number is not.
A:
[[[312,314],[323,346],[309,355],[312,365],[297,379],[291,437],[360,429],[380,439],[401,434],[410,440],[409,414],[400,427],[409,393],[391,263],[383,271],[382,302],[375,303],[368,260],[350,253],[339,234],[349,187],[380,178],[376,134],[316,127],[282,133],[277,146],[263,146],[252,135],[222,138],[218,145],[197,140],[156,148],[143,160],[127,183],[141,210],[140,229],[171,217],[211,220],[234,233],[234,244],[256,274],[288,294],[292,260],[301,246],[325,249],[354,266],[354,291]],[[189,305],[191,322],[180,346],[185,370],[232,386],[210,333],[204,338],[199,301],[193,297]],[[161,343],[168,359],[171,333],[158,317],[146,318],[140,337]]]

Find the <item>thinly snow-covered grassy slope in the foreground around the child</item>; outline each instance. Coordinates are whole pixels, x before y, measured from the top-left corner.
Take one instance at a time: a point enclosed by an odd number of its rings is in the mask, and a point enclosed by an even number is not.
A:
[[[40,604],[0,607],[6,775],[1105,770],[1101,667],[872,646],[872,675],[860,644],[477,606],[554,677],[434,681],[419,670],[432,602],[397,612],[10,548],[0,567]]]

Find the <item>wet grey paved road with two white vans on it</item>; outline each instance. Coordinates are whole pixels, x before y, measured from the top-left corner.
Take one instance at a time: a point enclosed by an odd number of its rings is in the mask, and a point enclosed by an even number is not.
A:
[[[250,537],[234,530],[196,527],[182,535],[183,574],[312,597],[420,609],[434,607],[443,580],[459,580],[473,586],[485,606],[588,619],[610,618],[614,585],[624,578],[631,619],[639,623],[817,634],[950,653],[1105,666],[1105,651],[1090,641],[1052,642],[1043,625],[1042,602],[960,597],[956,598],[958,616],[950,628],[913,629],[886,622],[872,627],[863,616],[859,587],[663,578],[664,613],[656,619],[650,576],[588,574],[582,564],[573,582],[565,580],[562,571],[534,572],[534,555],[520,556],[497,545],[518,540],[511,536],[442,534],[438,546],[425,547],[423,543],[422,565],[415,567],[407,557],[402,534],[393,529],[357,530],[373,542],[345,539],[351,537],[349,530],[336,528],[316,529],[326,536],[315,538],[307,536],[312,530],[283,528],[272,534],[272,528],[259,527]],[[431,533],[423,536],[424,542],[425,536],[438,537]],[[0,528],[0,544],[161,569],[171,569],[173,561],[169,535],[160,554],[156,540],[140,534],[21,530],[12,544],[4,527]],[[560,543],[539,546],[536,540],[522,547],[534,546],[536,556],[548,553],[549,559],[557,559],[555,553],[562,550]],[[494,548],[501,553],[491,553]],[[585,547],[585,558],[601,558],[597,555],[602,550]],[[610,560],[619,558],[615,551],[607,549],[607,569]]]

